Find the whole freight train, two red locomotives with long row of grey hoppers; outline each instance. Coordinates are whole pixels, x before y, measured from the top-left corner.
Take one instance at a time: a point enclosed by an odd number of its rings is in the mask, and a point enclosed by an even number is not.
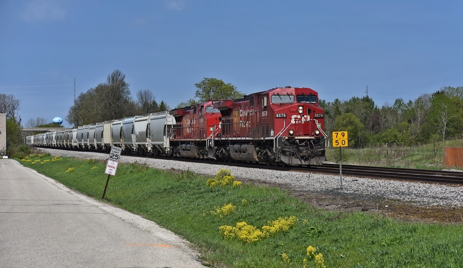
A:
[[[318,93],[287,86],[27,136],[25,143],[102,152],[119,146],[127,154],[309,166],[326,160],[323,129]]]

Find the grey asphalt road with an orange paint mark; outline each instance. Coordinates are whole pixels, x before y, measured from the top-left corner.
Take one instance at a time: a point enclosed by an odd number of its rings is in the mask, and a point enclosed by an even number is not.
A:
[[[204,267],[188,242],[0,159],[0,267]]]

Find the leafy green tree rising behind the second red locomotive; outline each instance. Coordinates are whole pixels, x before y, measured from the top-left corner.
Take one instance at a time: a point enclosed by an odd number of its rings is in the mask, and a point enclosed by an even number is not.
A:
[[[194,84],[197,90],[195,97],[199,97],[199,102],[213,99],[237,99],[243,97],[243,93],[237,90],[232,83],[225,84],[217,78],[204,78],[201,82]]]

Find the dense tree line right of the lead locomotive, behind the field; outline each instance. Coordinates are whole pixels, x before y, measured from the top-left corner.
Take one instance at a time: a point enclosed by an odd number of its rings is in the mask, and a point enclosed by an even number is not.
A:
[[[413,145],[462,138],[463,87],[442,87],[405,102],[375,105],[372,98],[351,97],[319,101],[325,110],[325,133],[348,131],[350,146],[368,144]]]

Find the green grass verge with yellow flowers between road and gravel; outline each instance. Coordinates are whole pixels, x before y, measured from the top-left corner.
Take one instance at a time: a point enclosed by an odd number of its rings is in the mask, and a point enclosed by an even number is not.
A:
[[[20,163],[101,200],[107,178],[104,162],[47,155],[28,159],[31,162]],[[40,162],[31,164],[36,159]],[[47,159],[50,162],[45,162]],[[97,168],[92,169],[94,166]],[[75,170],[66,172],[72,168]],[[303,267],[303,259],[307,259],[307,267],[320,267],[308,258],[309,245],[323,254],[326,267],[462,266],[462,225],[408,223],[374,213],[328,212],[277,188],[242,184],[212,189],[206,186],[207,179],[191,171],[121,163],[116,176],[111,177],[105,201],[181,235],[197,245],[201,259],[214,267]],[[236,210],[228,216],[210,213],[229,203]],[[260,228],[269,225],[269,220],[288,216],[299,220],[288,231],[255,243],[223,239],[219,234],[222,225],[245,221]],[[288,255],[289,262],[282,262],[282,253]]]

